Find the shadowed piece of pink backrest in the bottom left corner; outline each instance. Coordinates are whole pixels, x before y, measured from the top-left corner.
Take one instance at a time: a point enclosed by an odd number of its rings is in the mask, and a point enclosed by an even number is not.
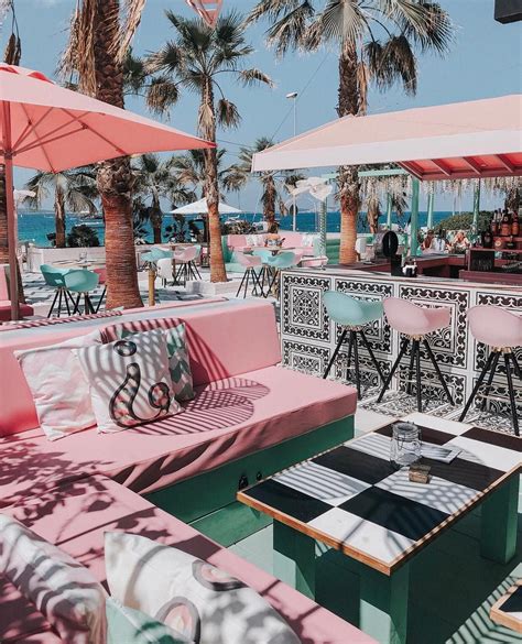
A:
[[[30,635],[48,636],[52,640],[52,626],[36,607],[18,590],[3,575],[0,575],[0,642],[29,642]],[[46,642],[46,640],[31,640]]]

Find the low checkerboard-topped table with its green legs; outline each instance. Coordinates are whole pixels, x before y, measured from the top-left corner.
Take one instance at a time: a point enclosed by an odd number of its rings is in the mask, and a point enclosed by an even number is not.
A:
[[[359,627],[393,644],[406,642],[412,558],[470,510],[481,505],[481,556],[514,556],[522,458],[521,438],[423,414],[406,419],[421,427],[423,446],[461,450],[450,463],[423,458],[428,483],[392,466],[389,424],[237,494],[274,519],[276,577],[315,599],[315,542],[340,550],[360,579]]]

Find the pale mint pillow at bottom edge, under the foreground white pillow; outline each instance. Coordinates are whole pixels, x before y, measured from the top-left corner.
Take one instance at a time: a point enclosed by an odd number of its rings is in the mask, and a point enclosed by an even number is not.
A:
[[[107,644],[193,644],[166,624],[107,598]]]

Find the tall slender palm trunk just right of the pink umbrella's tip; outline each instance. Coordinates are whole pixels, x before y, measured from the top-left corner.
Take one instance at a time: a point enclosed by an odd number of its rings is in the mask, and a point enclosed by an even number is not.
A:
[[[216,142],[216,112],[214,108],[214,91],[211,79],[208,79],[202,92],[200,129],[208,141]],[[219,221],[219,182],[216,148],[205,149],[205,197],[208,207],[208,231],[210,234],[210,282],[227,282],[227,271],[222,256],[221,223]]]

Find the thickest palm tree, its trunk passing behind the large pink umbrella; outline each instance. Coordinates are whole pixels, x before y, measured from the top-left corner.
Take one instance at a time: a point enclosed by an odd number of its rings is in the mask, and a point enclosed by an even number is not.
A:
[[[62,62],[65,75],[77,77],[80,91],[123,107],[124,61],[140,23],[145,0],[81,0],[70,25]],[[98,189],[105,212],[107,307],[142,306],[132,231],[133,176],[128,157],[98,166]]]

